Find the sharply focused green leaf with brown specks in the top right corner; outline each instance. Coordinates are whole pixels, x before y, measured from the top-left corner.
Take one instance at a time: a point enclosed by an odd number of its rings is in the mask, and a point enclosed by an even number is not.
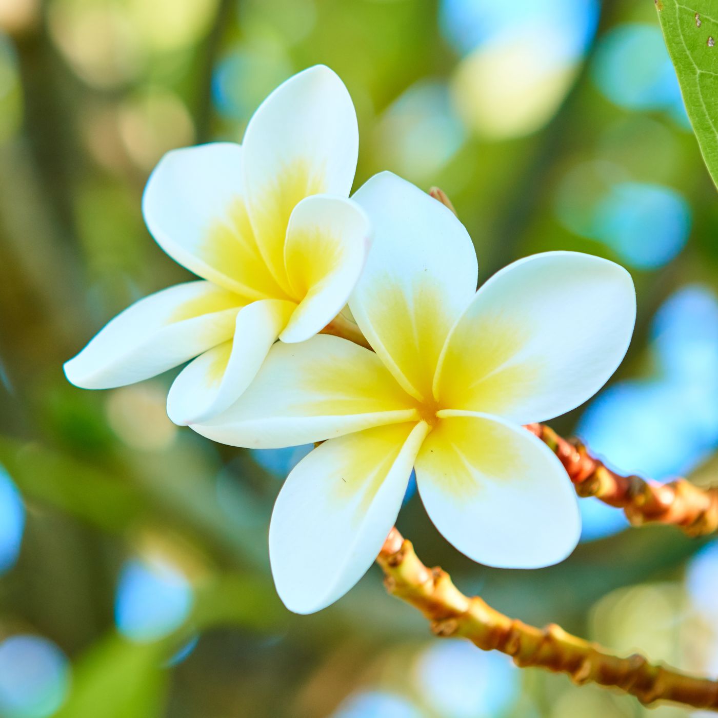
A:
[[[718,4],[656,0],[656,9],[703,159],[718,186]]]

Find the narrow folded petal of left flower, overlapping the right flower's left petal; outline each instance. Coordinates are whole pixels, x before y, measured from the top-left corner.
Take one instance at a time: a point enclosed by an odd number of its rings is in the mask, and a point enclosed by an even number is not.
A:
[[[175,424],[206,421],[233,404],[256,376],[296,308],[284,299],[261,299],[240,309],[233,340],[197,357],[172,383],[167,396],[169,418]]]

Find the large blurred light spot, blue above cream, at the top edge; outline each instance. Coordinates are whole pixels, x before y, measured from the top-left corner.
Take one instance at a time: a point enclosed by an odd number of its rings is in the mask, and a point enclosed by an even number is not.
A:
[[[554,116],[595,34],[596,0],[444,0],[444,36],[461,55],[452,96],[467,126],[523,136]]]

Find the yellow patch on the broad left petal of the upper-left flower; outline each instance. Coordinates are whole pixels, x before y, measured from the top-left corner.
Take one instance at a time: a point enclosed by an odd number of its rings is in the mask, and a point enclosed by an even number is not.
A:
[[[259,251],[244,200],[236,197],[215,220],[199,250],[202,259],[235,281],[251,299],[287,299]]]

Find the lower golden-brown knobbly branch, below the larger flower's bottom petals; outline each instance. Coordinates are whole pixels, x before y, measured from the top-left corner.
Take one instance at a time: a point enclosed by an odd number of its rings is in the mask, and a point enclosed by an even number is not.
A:
[[[411,541],[404,540],[396,528],[376,560],[388,592],[421,611],[437,636],[467,638],[483,651],[508,654],[521,668],[566,673],[579,685],[612,686],[643,704],[674,701],[718,711],[718,681],[689,676],[639,655],[612,656],[555,624],[535,628],[511,619],[479,597],[462,594],[442,569],[424,566]]]

